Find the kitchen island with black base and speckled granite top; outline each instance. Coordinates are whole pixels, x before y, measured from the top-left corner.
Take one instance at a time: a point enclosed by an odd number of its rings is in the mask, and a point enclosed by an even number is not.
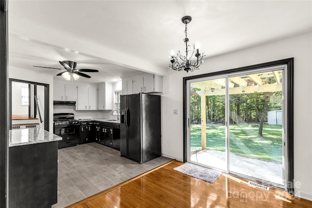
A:
[[[9,131],[9,207],[51,208],[58,202],[58,141],[43,129]]]

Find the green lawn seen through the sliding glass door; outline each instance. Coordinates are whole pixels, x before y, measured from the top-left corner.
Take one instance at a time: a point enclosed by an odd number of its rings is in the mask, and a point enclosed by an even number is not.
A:
[[[282,162],[282,126],[264,125],[263,138],[257,137],[259,127],[249,124],[230,125],[230,153],[255,159]],[[225,151],[225,126],[206,126],[206,147]],[[201,148],[201,126],[191,125],[191,148]]]

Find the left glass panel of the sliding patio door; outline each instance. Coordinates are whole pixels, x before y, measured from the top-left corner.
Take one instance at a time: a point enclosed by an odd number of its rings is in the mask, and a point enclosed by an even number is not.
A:
[[[190,158],[194,163],[227,171],[227,79],[210,77],[190,83]]]

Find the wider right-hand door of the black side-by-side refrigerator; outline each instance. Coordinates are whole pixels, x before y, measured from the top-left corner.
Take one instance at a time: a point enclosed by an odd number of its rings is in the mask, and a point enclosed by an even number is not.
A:
[[[128,95],[128,157],[141,162],[141,94]]]

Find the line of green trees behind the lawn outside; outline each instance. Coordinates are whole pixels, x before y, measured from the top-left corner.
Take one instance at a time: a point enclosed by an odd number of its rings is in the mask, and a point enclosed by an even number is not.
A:
[[[200,91],[191,88],[190,120],[191,123],[201,122]],[[262,127],[267,122],[268,111],[282,109],[281,92],[266,92],[252,94],[237,94],[229,96],[229,122],[230,124],[257,123],[259,136],[262,136]],[[225,119],[225,95],[206,96],[206,121],[220,122]]]

